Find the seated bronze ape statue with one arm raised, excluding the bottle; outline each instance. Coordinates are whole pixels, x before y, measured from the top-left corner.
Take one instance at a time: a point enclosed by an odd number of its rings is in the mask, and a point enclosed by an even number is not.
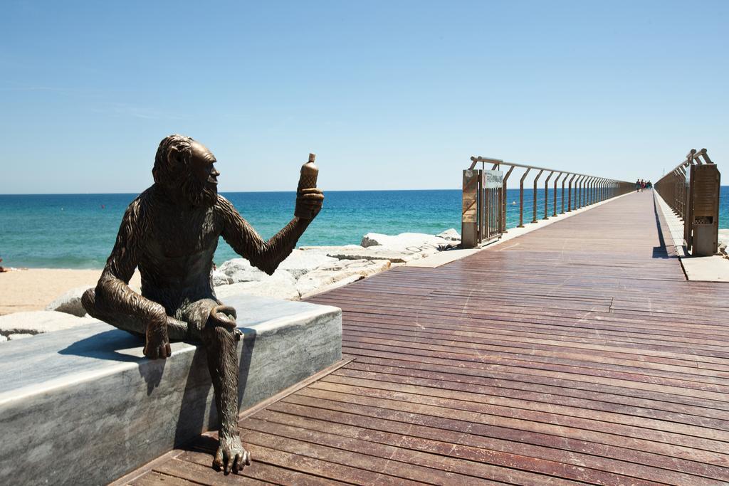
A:
[[[160,143],[152,169],[155,184],[127,208],[98,285],[85,292],[82,303],[93,317],[145,336],[144,355],[152,359],[170,356],[170,340],[203,342],[220,417],[213,465],[227,473],[250,464],[250,455],[237,426],[241,332],[235,309],[222,305],[212,286],[218,238],[222,235],[238,254],[271,274],[319,213],[324,195],[300,187],[298,216],[264,241],[218,195],[215,162],[190,137],[171,135]],[[128,287],[136,267],[141,295]]]

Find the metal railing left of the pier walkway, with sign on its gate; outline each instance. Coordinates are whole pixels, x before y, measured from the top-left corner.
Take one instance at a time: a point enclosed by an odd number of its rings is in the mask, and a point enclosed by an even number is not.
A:
[[[480,169],[476,168],[478,163],[481,163]],[[487,164],[491,165],[490,170],[486,169]],[[508,167],[505,174],[500,170],[502,165]],[[526,169],[519,179],[519,224],[517,227],[524,226],[524,181],[531,171],[536,172],[536,176],[532,181],[531,205],[527,203],[526,209],[531,209],[532,223],[538,221],[538,211],[542,203],[544,204],[542,219],[549,219],[550,216],[569,213],[586,205],[623,195],[631,192],[635,187],[635,184],[627,181],[617,181],[589,174],[504,162],[504,160],[491,157],[471,157],[470,167],[463,171],[461,238],[464,248],[475,248],[489,240],[501,238],[501,235],[507,232],[507,181],[515,168]],[[543,179],[544,193],[540,196],[539,180],[545,173],[547,176]],[[560,181],[561,192],[558,188]],[[551,201],[550,182],[553,187]],[[558,204],[558,200],[560,204]]]

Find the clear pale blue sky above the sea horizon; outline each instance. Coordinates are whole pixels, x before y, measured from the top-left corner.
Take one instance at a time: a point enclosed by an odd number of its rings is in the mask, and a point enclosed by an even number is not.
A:
[[[308,152],[325,190],[456,189],[474,154],[627,180],[692,147],[729,162],[728,1],[0,9],[4,194],[140,192],[169,133],[222,191],[293,190]]]

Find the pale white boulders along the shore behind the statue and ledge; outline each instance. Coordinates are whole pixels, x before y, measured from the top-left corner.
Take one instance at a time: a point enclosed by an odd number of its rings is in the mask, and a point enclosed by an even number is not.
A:
[[[211,278],[215,294],[222,301],[234,294],[300,300],[447,251],[460,243],[461,235],[454,229],[438,235],[367,233],[359,245],[297,248],[273,275],[253,267],[247,259],[235,258],[217,267]],[[0,342],[95,322],[81,305],[81,294],[86,288],[66,291],[45,310],[0,315]]]

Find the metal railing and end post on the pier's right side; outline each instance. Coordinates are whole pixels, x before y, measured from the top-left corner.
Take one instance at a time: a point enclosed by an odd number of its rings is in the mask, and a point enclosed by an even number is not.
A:
[[[721,174],[706,149],[691,149],[683,162],[654,185],[684,225],[684,244],[695,256],[713,255],[719,238]]]

